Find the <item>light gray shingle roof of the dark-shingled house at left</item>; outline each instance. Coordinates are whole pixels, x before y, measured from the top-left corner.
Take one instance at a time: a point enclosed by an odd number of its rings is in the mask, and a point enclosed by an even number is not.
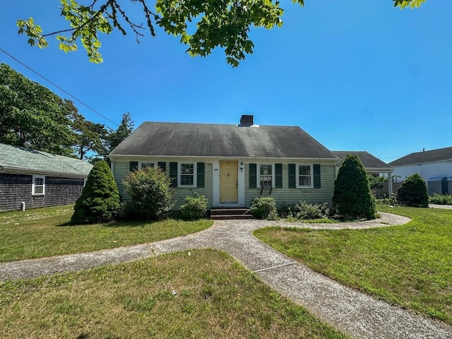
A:
[[[20,169],[29,173],[68,174],[87,177],[93,165],[73,157],[0,143],[0,166],[4,170]],[[0,167],[0,169],[1,169]]]

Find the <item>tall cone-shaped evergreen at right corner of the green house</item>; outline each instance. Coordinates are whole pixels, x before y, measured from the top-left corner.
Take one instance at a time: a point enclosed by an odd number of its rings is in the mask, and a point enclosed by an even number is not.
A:
[[[366,169],[356,155],[347,155],[334,181],[333,208],[347,218],[375,219]]]

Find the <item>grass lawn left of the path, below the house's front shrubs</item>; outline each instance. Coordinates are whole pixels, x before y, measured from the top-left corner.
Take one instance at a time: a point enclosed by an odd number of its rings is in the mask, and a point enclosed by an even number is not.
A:
[[[67,226],[73,205],[0,213],[0,261],[145,244],[198,232],[211,220],[112,222]]]

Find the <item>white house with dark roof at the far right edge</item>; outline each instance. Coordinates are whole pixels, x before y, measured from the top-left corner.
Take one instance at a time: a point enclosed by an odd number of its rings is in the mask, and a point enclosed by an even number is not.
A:
[[[452,193],[448,190],[448,186],[452,186],[452,147],[410,153],[389,165],[394,168],[393,175],[402,181],[419,174],[427,183],[429,194]]]

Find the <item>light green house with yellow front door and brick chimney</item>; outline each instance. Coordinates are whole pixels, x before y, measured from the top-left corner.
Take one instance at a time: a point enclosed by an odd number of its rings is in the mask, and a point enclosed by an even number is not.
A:
[[[331,201],[338,161],[298,126],[144,122],[109,154],[119,193],[131,170],[169,172],[176,206],[193,192],[210,207],[250,206],[256,196],[285,203]]]

